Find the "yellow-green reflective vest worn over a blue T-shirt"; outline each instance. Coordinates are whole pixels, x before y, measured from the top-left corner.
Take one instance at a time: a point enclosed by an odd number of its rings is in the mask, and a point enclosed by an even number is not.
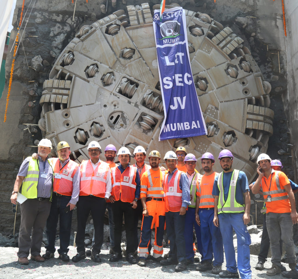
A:
[[[243,212],[244,204],[238,203],[235,198],[236,184],[239,176],[239,170],[233,170],[227,200],[224,200],[223,173],[224,172],[221,172],[218,175],[218,180],[217,180],[217,186],[220,191],[219,198],[218,198],[218,206],[217,206],[218,214]]]

